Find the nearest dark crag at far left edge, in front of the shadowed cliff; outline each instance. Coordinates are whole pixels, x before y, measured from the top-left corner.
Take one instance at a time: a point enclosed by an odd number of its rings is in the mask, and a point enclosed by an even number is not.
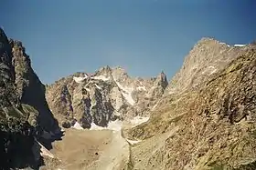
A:
[[[33,146],[33,132],[37,127],[37,111],[21,104],[16,93],[15,68],[11,46],[0,29],[0,143],[1,169],[32,164],[29,159]]]

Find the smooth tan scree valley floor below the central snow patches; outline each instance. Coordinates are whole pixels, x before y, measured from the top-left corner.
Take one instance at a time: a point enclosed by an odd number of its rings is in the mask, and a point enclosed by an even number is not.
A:
[[[61,165],[44,167],[47,169],[112,170],[129,161],[129,144],[120,131],[66,129],[50,152]]]

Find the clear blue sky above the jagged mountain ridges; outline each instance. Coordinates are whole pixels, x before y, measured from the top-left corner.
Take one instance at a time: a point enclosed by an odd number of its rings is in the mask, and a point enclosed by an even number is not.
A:
[[[0,25],[21,40],[43,83],[121,65],[170,79],[203,36],[256,39],[255,0],[2,0]]]

